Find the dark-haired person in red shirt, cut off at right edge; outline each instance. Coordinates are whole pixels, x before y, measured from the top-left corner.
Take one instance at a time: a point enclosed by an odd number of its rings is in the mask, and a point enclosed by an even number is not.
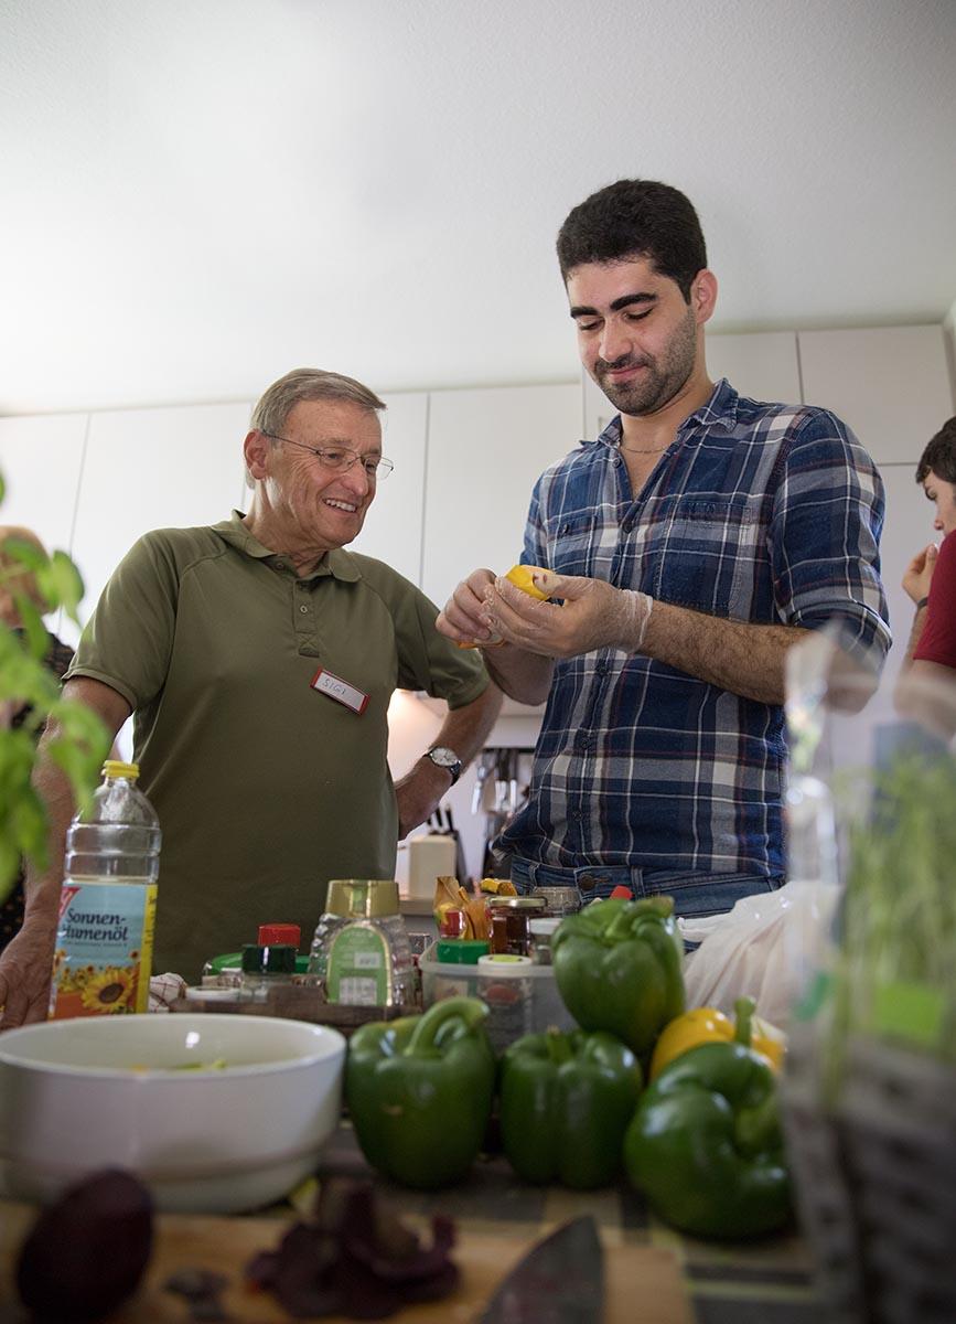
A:
[[[936,506],[943,534],[910,561],[903,588],[916,605],[902,686],[936,681],[956,687],[956,417],[943,424],[916,465],[916,482]],[[952,700],[956,708],[956,696]],[[947,723],[952,726],[952,723]]]

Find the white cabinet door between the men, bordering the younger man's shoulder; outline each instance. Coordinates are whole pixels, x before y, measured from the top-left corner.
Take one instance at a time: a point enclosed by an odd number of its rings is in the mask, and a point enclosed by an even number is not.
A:
[[[432,395],[422,588],[433,602],[477,567],[518,560],[535,479],[577,446],[580,425],[577,383]]]

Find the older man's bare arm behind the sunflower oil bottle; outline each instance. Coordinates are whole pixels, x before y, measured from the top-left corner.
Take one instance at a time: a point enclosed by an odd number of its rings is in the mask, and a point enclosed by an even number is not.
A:
[[[64,686],[64,698],[85,703],[99,714],[111,737],[130,715],[130,704],[122,695],[107,685],[86,677],[68,681]],[[0,956],[0,1006],[3,1006],[0,1030],[23,1025],[25,1021],[46,1018],[66,830],[74,813],[73,794],[66,777],[44,756],[48,741],[57,733],[58,730],[53,724],[48,726],[40,741],[33,775],[33,784],[46,806],[49,820],[48,867],[41,873],[36,866],[28,866],[24,924]]]

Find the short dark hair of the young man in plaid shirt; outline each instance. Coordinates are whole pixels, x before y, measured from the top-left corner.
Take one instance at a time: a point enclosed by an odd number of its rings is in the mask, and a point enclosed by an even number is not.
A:
[[[690,302],[694,277],[707,266],[707,245],[690,199],[653,179],[618,179],[579,203],[557,232],[565,283],[584,262],[629,257],[649,261]]]

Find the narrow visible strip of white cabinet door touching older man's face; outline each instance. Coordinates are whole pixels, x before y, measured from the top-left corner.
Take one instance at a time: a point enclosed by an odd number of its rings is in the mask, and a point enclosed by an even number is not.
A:
[[[421,585],[428,393],[417,391],[381,399],[388,405],[381,449],[395,470],[379,483],[365,527],[350,543],[350,551],[377,556]]]

